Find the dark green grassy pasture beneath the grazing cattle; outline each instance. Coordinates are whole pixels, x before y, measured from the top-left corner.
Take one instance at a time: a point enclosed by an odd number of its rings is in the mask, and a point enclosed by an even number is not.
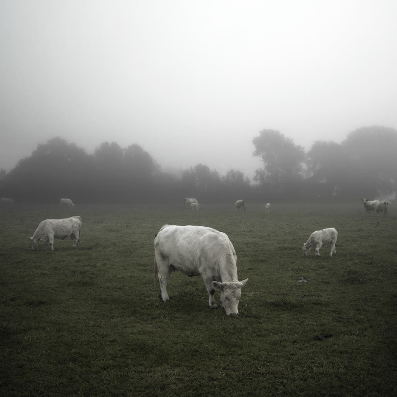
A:
[[[31,237],[43,219],[82,218],[78,250]],[[239,316],[207,307],[200,277],[153,281],[165,224],[228,234]],[[338,231],[308,257],[302,245]],[[1,396],[396,396],[397,210],[247,203],[0,208]],[[304,277],[307,282],[300,282]],[[215,294],[219,303],[219,294]],[[324,340],[316,336],[332,335]]]

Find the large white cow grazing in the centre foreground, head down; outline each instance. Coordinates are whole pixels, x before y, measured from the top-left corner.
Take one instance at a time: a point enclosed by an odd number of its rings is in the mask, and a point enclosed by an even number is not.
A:
[[[154,278],[160,281],[160,298],[167,302],[167,282],[175,270],[189,277],[200,275],[208,291],[208,305],[216,309],[214,293],[220,291],[220,306],[238,315],[241,288],[237,256],[225,233],[204,226],[164,225],[154,238]]]

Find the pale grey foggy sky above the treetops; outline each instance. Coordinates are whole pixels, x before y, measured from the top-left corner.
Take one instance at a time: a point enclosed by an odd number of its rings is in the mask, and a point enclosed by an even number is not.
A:
[[[264,129],[371,125],[397,128],[396,0],[0,0],[0,168],[61,136],[252,178]]]

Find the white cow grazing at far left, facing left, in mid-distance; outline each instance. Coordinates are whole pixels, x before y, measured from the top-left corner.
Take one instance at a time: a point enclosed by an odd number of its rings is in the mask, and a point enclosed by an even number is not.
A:
[[[46,219],[40,222],[33,237],[29,237],[34,251],[44,241],[44,248],[50,242],[51,250],[54,251],[54,237],[65,240],[67,237],[74,238],[73,248],[78,248],[80,243],[81,218],[72,216],[66,219]]]

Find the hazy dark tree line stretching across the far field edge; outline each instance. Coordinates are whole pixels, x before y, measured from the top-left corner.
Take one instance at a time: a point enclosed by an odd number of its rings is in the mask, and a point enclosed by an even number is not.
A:
[[[250,179],[239,170],[221,176],[203,164],[182,177],[163,172],[138,144],[103,142],[93,154],[55,137],[8,173],[0,171],[1,197],[15,202],[167,203],[252,202],[375,198],[396,191],[397,131],[365,127],[340,144],[318,140],[306,153],[281,132],[263,130],[253,139],[263,167]]]

